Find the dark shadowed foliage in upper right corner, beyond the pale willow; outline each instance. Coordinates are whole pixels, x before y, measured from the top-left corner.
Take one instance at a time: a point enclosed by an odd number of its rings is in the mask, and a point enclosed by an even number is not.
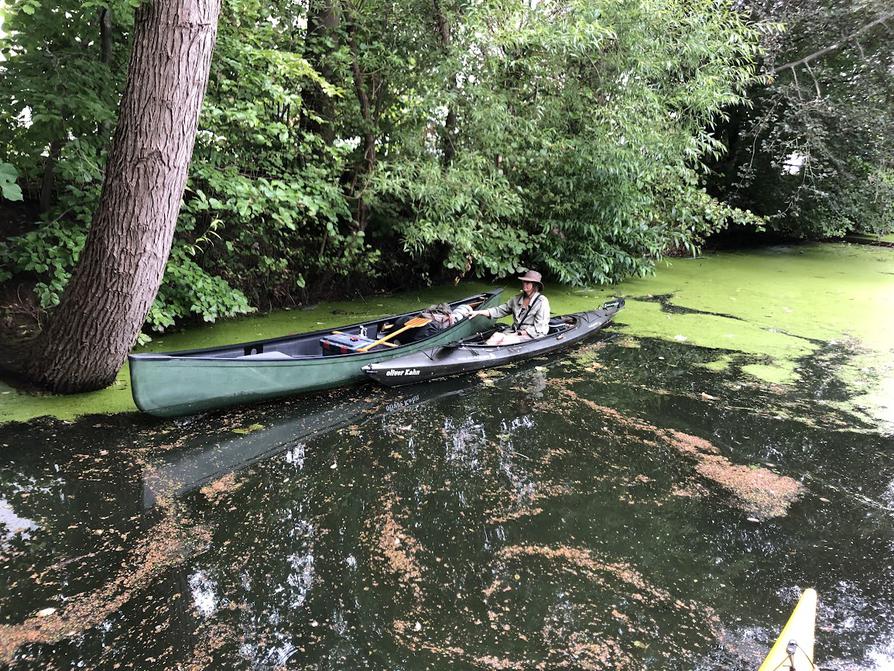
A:
[[[792,237],[894,231],[890,3],[753,3],[785,31],[765,35],[770,80],[718,135],[730,149],[713,190]]]

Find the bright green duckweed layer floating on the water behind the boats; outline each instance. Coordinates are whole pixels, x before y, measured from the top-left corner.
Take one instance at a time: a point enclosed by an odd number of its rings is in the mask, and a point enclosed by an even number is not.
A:
[[[507,284],[514,289],[514,284]],[[157,337],[139,351],[207,347],[362,321],[481,291],[442,286],[389,297],[320,304],[225,321]],[[738,366],[758,383],[796,384],[798,362],[825,344],[845,343],[852,359],[835,372],[852,403],[894,422],[894,251],[846,243],[776,246],[662,262],[652,277],[615,287],[547,287],[553,312],[591,308],[621,295],[619,328],[632,338],[717,350],[709,370]],[[0,383],[0,423],[133,412],[125,366],[107,389],[72,396],[21,393]]]

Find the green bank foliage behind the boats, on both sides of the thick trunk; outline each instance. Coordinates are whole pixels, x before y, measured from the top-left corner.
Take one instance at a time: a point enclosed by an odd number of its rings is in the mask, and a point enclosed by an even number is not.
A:
[[[98,201],[135,4],[10,5],[0,147],[28,198],[56,187],[0,281],[46,308]],[[703,184],[712,125],[756,81],[757,29],[725,0],[333,6],[224,1],[148,330],[522,266],[617,281],[760,224]]]

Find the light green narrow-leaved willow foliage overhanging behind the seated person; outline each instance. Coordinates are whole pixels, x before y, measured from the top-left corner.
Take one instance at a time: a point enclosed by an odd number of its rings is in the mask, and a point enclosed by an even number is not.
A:
[[[370,186],[408,250],[444,245],[460,274],[524,263],[614,282],[668,249],[694,252],[729,221],[759,223],[701,186],[702,159],[722,150],[710,124],[754,81],[757,32],[732,9],[587,0],[453,6],[459,15],[439,63],[363,63],[410,79],[381,102],[389,144]],[[444,49],[420,30],[415,42]],[[451,72],[463,85],[445,92]],[[439,107],[457,119],[447,165],[432,142],[449,135]]]

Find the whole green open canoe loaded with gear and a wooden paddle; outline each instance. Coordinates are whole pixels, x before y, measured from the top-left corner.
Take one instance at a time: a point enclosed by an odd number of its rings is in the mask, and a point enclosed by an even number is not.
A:
[[[499,304],[500,290],[451,303],[452,308],[474,305],[484,309]],[[162,354],[131,354],[130,387],[143,412],[176,417],[252,403],[269,398],[330,389],[366,379],[363,367],[398,356],[438,347],[488,328],[485,317],[463,319],[433,336],[397,347],[379,345],[368,352],[324,354],[322,341],[338,334],[361,342],[377,340],[389,322],[418,312],[393,315],[313,333],[258,340],[208,349]]]

